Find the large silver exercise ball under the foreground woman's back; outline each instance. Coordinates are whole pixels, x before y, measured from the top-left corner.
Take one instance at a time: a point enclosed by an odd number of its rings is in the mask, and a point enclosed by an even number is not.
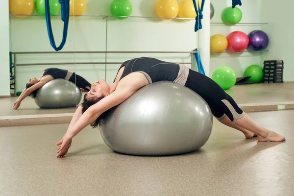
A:
[[[100,123],[114,151],[131,155],[174,155],[195,151],[208,140],[212,114],[203,98],[179,84],[147,85],[113,107]]]

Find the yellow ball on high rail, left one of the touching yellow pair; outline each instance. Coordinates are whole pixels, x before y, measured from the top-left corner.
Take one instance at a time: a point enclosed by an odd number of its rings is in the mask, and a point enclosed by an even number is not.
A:
[[[179,5],[176,0],[158,0],[155,11],[160,18],[175,18],[179,12]],[[172,19],[163,19],[172,20]]]

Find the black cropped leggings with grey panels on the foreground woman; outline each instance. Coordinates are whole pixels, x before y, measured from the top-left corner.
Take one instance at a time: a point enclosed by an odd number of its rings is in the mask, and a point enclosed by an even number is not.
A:
[[[201,73],[190,69],[185,86],[200,95],[210,106],[212,114],[218,119],[226,115],[233,123],[236,123],[245,115],[231,96],[215,81]]]

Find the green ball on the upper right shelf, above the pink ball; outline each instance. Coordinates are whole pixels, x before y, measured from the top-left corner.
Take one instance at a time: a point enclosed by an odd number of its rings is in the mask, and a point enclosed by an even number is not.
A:
[[[242,11],[238,7],[227,7],[221,13],[223,23],[235,25],[242,20]]]

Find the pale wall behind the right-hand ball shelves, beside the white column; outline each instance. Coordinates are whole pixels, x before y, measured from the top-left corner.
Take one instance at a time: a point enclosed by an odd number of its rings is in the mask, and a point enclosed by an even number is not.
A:
[[[246,34],[252,30],[261,29],[261,25],[247,24],[247,25],[224,25],[221,20],[221,12],[226,7],[232,6],[232,0],[211,0],[215,8],[215,15],[211,20],[210,35],[222,34],[225,37],[233,31],[243,31]],[[260,0],[242,0],[242,6],[238,7],[242,10],[243,18],[240,23],[261,23],[261,1]],[[276,3],[275,3],[276,4]],[[272,5],[274,6],[274,5]],[[221,53],[211,54],[210,59],[210,75],[215,69],[221,66],[229,66],[233,68],[237,77],[243,77],[243,73],[249,65],[258,64],[261,62],[262,52],[242,52],[242,53]]]

